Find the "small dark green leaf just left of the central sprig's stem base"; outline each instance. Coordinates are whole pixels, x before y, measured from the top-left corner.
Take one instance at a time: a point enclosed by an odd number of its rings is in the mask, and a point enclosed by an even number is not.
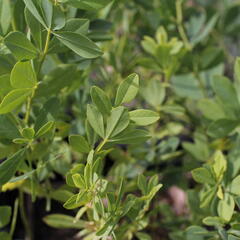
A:
[[[91,150],[86,139],[80,135],[71,135],[69,137],[69,143],[73,150],[80,153],[89,153]]]

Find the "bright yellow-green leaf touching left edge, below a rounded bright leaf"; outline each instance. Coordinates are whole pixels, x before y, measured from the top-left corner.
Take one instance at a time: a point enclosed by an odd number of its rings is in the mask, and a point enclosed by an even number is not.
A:
[[[0,104],[0,114],[9,113],[19,105],[21,105],[29,95],[31,95],[32,89],[16,89],[8,93]]]

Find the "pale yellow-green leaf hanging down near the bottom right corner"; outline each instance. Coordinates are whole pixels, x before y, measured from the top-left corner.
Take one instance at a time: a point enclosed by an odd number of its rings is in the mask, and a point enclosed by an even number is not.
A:
[[[224,199],[218,203],[218,215],[226,222],[229,222],[234,212],[234,199],[229,194],[225,193]]]

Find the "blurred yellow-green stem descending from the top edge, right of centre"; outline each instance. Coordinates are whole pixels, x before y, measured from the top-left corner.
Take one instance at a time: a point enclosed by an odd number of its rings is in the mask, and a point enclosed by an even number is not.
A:
[[[185,32],[185,29],[183,27],[183,16],[182,16],[182,0],[177,0],[176,1],[176,14],[177,14],[177,19],[176,19],[176,22],[177,22],[177,29],[178,29],[178,32],[183,40],[183,43],[185,45],[185,47],[188,49],[188,50],[191,50],[192,49],[192,45],[190,44],[189,40],[188,40],[188,37],[187,37],[187,34]]]

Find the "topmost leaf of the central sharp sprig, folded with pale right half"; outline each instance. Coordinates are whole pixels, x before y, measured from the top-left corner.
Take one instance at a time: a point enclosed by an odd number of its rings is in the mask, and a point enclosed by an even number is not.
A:
[[[115,105],[132,101],[139,90],[139,77],[136,73],[129,75],[118,87]]]

